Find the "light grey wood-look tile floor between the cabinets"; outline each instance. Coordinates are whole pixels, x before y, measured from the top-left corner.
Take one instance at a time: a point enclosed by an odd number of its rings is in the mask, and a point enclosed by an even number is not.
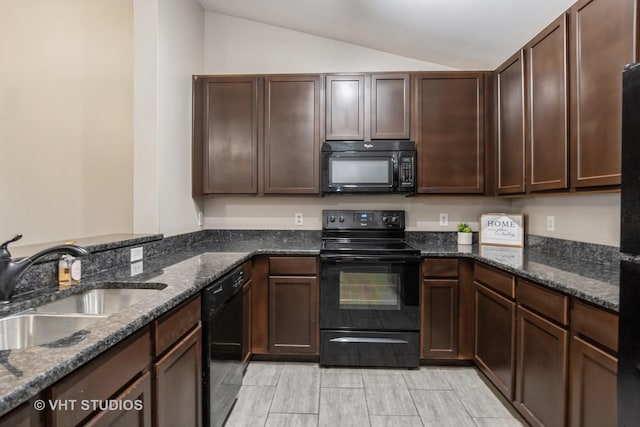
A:
[[[226,426],[523,426],[472,367],[251,362]]]

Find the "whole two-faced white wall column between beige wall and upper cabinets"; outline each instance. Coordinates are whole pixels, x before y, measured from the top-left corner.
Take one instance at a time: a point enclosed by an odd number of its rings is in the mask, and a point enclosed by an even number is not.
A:
[[[191,198],[191,76],[202,73],[204,10],[197,0],[135,0],[136,232],[195,231]]]

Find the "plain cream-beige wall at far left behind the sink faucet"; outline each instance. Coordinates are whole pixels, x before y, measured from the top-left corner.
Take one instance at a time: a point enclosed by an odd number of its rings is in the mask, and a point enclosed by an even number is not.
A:
[[[131,1],[3,0],[0,21],[0,240],[131,232]]]

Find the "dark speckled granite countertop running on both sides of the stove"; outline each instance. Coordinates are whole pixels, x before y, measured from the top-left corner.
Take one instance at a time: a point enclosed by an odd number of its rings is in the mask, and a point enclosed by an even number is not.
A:
[[[476,245],[459,247],[442,241],[420,240],[411,243],[421,250],[423,256],[470,257],[608,309],[616,311],[618,307],[617,263],[594,265],[579,259],[563,260],[535,250],[525,250],[520,254],[501,254],[500,251],[489,254],[483,248],[481,255]],[[31,301],[31,304],[39,305],[56,298],[56,295],[61,297],[109,283],[120,287],[127,283],[131,286],[166,285],[145,301],[87,328],[88,334],[80,342],[67,347],[36,346],[0,352],[0,415],[37,395],[253,255],[318,255],[319,251],[319,233],[303,239],[291,239],[278,232],[266,232],[258,238],[247,236],[231,240],[217,239],[212,234],[207,241],[145,258],[143,273],[133,277],[128,265],[113,268],[83,279],[81,285],[71,290]],[[522,260],[521,264],[510,265],[514,259]],[[25,304],[24,301],[16,303],[14,309],[22,310],[26,308]],[[11,311],[5,308],[4,314],[8,312]]]

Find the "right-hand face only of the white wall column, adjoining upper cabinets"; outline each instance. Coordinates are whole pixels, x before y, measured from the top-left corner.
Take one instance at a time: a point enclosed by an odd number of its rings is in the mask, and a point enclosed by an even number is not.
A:
[[[203,70],[204,10],[160,0],[158,31],[158,223],[170,236],[200,229],[191,197],[191,76]]]

